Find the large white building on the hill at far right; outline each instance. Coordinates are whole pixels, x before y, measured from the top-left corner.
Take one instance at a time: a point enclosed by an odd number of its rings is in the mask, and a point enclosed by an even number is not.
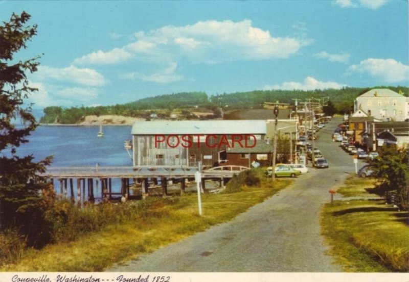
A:
[[[353,116],[373,116],[382,121],[409,118],[409,97],[390,89],[372,89],[355,99]]]

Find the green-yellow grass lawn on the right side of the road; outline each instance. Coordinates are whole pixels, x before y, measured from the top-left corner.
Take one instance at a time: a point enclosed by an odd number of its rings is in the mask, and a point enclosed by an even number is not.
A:
[[[371,180],[351,177],[346,184],[338,192],[363,196]],[[366,195],[371,196],[368,192]],[[329,252],[344,271],[409,271],[407,211],[398,211],[382,199],[334,201],[324,206],[321,225],[332,246]]]

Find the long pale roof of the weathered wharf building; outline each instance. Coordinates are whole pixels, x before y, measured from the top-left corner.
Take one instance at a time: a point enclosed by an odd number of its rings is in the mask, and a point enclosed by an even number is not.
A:
[[[266,125],[264,120],[137,121],[131,134],[266,134]]]

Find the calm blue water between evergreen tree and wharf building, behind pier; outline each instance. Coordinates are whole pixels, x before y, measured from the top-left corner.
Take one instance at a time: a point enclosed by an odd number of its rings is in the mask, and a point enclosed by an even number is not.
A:
[[[36,160],[54,156],[51,166],[131,166],[124,148],[131,139],[131,126],[39,126],[22,144],[18,155],[32,154]]]

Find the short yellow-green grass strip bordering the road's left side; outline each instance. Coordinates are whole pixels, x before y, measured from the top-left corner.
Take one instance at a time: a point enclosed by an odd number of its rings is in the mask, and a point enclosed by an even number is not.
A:
[[[263,179],[260,187],[243,187],[242,191],[230,194],[204,194],[202,217],[197,212],[195,193],[155,198],[139,220],[109,224],[97,232],[82,234],[75,241],[48,245],[41,250],[29,249],[17,263],[3,265],[0,271],[101,271],[231,220],[290,183],[279,180],[272,188]]]

